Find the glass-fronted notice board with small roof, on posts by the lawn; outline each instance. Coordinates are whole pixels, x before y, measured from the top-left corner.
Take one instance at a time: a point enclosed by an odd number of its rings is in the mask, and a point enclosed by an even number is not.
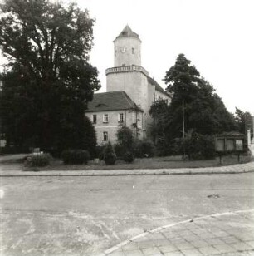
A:
[[[240,153],[244,150],[245,137],[243,134],[215,135],[215,150],[217,153]]]

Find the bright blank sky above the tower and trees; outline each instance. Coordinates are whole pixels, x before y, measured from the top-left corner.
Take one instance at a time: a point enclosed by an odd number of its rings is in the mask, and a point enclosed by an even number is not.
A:
[[[76,0],[95,17],[90,62],[100,71],[113,66],[113,40],[126,24],[142,40],[142,66],[162,79],[179,53],[197,67],[234,112],[254,113],[253,0]]]

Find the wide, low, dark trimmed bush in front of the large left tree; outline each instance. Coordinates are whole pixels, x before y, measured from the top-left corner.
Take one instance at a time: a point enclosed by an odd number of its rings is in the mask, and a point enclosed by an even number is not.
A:
[[[87,150],[65,150],[61,153],[61,160],[65,165],[86,165],[90,154]]]

